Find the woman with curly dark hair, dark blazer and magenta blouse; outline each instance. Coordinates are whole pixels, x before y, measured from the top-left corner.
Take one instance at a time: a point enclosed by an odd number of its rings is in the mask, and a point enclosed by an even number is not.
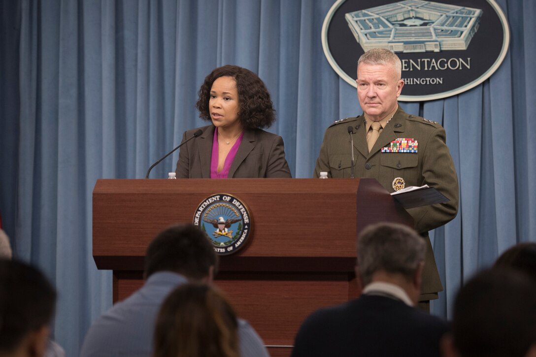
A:
[[[270,93],[248,69],[214,69],[199,89],[199,117],[211,125],[186,131],[203,133],[181,147],[177,178],[291,177],[283,139],[261,128],[276,120]]]

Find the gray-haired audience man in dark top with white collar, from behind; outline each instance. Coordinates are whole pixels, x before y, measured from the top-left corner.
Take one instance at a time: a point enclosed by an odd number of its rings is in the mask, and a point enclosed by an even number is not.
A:
[[[439,356],[448,325],[416,309],[426,243],[406,226],[379,223],[358,237],[356,281],[362,295],[311,314],[292,357]]]

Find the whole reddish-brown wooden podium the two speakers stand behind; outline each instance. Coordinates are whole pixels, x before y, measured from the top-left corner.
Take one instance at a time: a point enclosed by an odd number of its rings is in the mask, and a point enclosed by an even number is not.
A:
[[[413,226],[374,179],[235,178],[98,180],[93,190],[93,257],[113,270],[114,302],[143,284],[148,243],[192,222],[200,203],[230,194],[249,209],[247,245],[220,257],[216,284],[272,356],[288,356],[312,311],[356,298],[355,240],[378,221]]]

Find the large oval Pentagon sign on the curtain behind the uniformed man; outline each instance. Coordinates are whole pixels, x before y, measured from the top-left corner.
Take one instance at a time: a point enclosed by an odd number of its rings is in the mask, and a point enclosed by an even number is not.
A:
[[[436,100],[474,88],[499,68],[509,44],[497,0],[337,0],[322,26],[327,61],[354,87],[365,51],[396,53],[404,80],[400,101]]]

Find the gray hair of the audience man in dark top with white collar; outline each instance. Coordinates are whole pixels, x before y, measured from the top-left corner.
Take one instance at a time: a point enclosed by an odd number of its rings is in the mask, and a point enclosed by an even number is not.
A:
[[[425,240],[415,230],[394,223],[370,225],[358,236],[358,266],[364,285],[377,271],[414,277],[419,263],[425,260]]]

